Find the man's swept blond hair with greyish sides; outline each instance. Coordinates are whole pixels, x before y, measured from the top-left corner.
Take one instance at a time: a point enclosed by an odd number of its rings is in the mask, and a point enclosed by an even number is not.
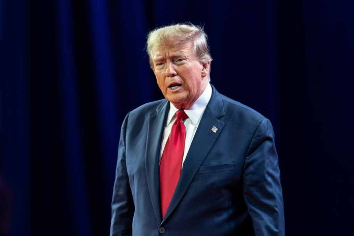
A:
[[[146,51],[149,54],[150,66],[153,68],[152,52],[164,43],[175,46],[187,42],[193,42],[193,50],[200,63],[211,63],[208,36],[206,36],[203,27],[192,23],[172,24],[156,28],[147,35]]]

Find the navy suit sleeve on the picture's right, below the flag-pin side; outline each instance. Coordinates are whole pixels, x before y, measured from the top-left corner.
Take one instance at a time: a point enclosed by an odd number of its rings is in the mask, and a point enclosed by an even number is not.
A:
[[[243,186],[255,235],[285,235],[278,155],[268,119],[260,121],[254,132],[245,159]]]

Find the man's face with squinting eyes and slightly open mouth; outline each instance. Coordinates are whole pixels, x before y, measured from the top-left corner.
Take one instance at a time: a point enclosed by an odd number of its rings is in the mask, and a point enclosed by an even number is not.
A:
[[[178,108],[188,109],[208,84],[210,63],[196,58],[193,43],[163,44],[153,51],[153,70],[165,98]]]

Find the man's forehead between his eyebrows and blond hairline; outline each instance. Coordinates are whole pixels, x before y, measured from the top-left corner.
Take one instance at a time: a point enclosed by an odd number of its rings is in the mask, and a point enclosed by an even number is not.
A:
[[[153,60],[171,56],[191,56],[194,54],[193,43],[162,42],[152,51]]]

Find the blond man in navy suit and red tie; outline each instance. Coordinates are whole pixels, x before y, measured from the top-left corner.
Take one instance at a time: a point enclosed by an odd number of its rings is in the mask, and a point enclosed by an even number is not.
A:
[[[166,99],[123,122],[110,235],[284,235],[272,125],[209,83],[202,28],[159,28],[147,52]]]

